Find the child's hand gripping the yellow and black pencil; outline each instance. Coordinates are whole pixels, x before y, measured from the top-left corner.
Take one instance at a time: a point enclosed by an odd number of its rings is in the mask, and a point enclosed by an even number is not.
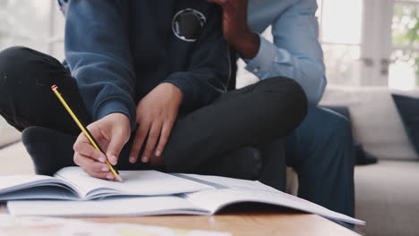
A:
[[[107,155],[93,147],[81,132],[73,147],[74,163],[93,177],[115,181],[106,160],[115,165],[122,148],[130,139],[131,127],[128,117],[124,114],[108,114],[97,122],[92,122],[87,129]]]

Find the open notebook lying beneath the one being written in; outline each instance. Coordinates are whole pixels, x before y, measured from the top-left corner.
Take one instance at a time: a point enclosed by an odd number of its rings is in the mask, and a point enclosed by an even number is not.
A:
[[[124,173],[124,172],[121,172]],[[138,171],[137,173],[142,173]],[[171,174],[179,182],[192,181],[203,190],[177,194],[142,197],[110,197],[91,201],[13,200],[7,203],[13,215],[50,216],[131,216],[131,215],[213,215],[225,206],[235,203],[265,203],[286,206],[346,223],[363,221],[342,215],[301,198],[286,194],[259,181],[244,181],[218,176]],[[127,178],[123,175],[124,180]],[[147,182],[146,180],[144,180]],[[147,183],[144,183],[148,185]],[[171,184],[174,184],[173,182]],[[151,183],[150,183],[151,185]],[[178,184],[162,183],[171,189]],[[150,186],[150,188],[152,188]]]

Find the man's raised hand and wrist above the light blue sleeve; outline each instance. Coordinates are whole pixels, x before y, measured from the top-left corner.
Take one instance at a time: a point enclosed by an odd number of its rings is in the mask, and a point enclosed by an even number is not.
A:
[[[261,38],[247,24],[248,0],[207,0],[223,8],[224,38],[245,59],[254,58],[261,46]]]

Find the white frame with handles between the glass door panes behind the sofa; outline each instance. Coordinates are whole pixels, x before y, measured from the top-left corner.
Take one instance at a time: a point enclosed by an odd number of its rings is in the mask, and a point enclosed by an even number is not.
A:
[[[363,0],[362,38],[360,44],[330,43],[321,38],[323,24],[323,0],[317,0],[320,7],[319,35],[321,45],[360,46],[361,71],[359,86],[389,86],[390,55],[394,50],[409,49],[417,51],[413,46],[393,46],[392,20],[396,3],[419,4],[418,0]],[[419,84],[416,84],[418,87]]]

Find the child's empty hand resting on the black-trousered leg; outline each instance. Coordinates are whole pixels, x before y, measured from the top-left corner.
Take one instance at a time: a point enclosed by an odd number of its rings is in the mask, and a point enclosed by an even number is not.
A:
[[[167,144],[181,103],[182,91],[171,83],[159,84],[141,99],[137,105],[139,127],[133,140],[131,163],[137,161],[141,147],[148,137],[141,161],[143,163],[150,161],[154,165],[163,164],[160,156]]]

